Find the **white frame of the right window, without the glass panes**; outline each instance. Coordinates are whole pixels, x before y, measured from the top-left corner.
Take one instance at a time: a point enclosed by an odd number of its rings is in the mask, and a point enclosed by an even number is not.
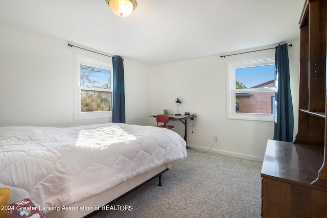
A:
[[[228,119],[243,119],[243,120],[258,120],[273,122],[275,114],[267,113],[240,113],[235,111],[236,93],[239,92],[271,92],[275,91],[275,87],[266,88],[247,88],[236,89],[236,69],[246,67],[256,67],[265,65],[275,65],[275,57],[257,57],[251,59],[235,60],[227,62],[227,118]]]

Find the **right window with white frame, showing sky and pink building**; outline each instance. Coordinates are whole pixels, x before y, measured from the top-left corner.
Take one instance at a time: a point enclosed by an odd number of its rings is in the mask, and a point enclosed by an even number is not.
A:
[[[228,118],[274,120],[275,59],[228,63]]]

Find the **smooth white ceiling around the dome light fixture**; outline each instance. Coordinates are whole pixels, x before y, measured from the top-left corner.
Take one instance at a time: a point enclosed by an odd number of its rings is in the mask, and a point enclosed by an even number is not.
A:
[[[105,0],[1,0],[0,21],[157,65],[298,40],[305,0],[136,2],[119,17]]]

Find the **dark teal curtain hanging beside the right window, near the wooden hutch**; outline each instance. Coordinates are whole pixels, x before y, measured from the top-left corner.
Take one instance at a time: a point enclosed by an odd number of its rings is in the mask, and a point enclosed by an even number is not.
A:
[[[287,43],[276,46],[275,89],[274,140],[293,141],[294,116]]]

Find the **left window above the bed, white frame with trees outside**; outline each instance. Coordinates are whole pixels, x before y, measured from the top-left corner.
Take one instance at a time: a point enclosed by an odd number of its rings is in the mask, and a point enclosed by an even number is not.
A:
[[[112,62],[74,54],[74,119],[112,116]]]

